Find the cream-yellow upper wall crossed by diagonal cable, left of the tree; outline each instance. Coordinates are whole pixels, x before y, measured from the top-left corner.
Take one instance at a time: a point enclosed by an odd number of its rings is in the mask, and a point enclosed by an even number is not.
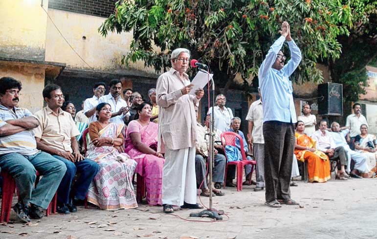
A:
[[[98,27],[105,18],[72,13],[56,9],[48,9],[54,23],[58,26],[70,45],[96,70],[125,69],[120,61],[123,54],[130,49],[132,33],[109,33],[104,38]],[[86,40],[83,40],[83,36]],[[89,69],[89,67],[68,46],[50,20],[47,21],[46,61],[64,62],[67,68]],[[130,65],[134,70],[155,73],[145,69],[144,63]]]

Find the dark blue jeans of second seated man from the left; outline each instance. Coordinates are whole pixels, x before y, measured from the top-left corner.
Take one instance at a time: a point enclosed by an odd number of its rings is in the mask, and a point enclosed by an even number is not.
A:
[[[66,174],[64,175],[58,188],[58,203],[69,203],[69,196],[84,200],[90,183],[99,170],[98,164],[90,159],[72,163],[71,161],[58,155],[53,156],[67,166]],[[80,173],[80,177],[77,179],[77,182],[71,189],[71,184],[75,177],[76,171]]]

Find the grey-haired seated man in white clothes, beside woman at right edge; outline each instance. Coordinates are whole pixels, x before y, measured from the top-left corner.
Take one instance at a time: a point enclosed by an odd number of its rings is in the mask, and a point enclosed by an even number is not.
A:
[[[370,172],[370,169],[367,164],[368,159],[366,155],[363,155],[354,150],[351,150],[350,146],[347,144],[345,137],[347,136],[347,134],[350,133],[350,130],[344,129],[341,131],[339,123],[335,121],[331,124],[331,129],[333,131],[331,132],[331,134],[333,136],[333,140],[336,146],[343,146],[348,154],[348,158],[349,159],[351,158],[353,161],[355,161],[355,166],[354,166],[354,169],[351,171],[350,176],[354,178],[361,178],[357,174],[358,172],[360,172],[360,173],[364,173],[363,174],[364,177],[372,177],[373,172]],[[350,171],[351,167],[348,166],[347,170]]]

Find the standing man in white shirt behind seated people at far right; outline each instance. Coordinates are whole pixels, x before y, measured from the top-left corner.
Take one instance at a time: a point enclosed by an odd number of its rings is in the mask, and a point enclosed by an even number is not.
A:
[[[355,148],[355,137],[359,135],[360,132],[360,126],[361,124],[366,124],[367,119],[361,114],[361,105],[359,103],[355,103],[352,106],[352,109],[354,110],[354,114],[351,114],[347,116],[346,119],[346,126],[350,128],[350,144],[351,144],[351,149]]]

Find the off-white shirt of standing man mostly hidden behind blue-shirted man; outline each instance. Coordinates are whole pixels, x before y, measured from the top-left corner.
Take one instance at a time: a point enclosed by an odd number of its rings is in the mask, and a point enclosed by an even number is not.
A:
[[[265,139],[263,138],[263,105],[260,99],[254,101],[250,105],[246,120],[254,122],[254,128],[252,132],[253,142],[265,143]]]

